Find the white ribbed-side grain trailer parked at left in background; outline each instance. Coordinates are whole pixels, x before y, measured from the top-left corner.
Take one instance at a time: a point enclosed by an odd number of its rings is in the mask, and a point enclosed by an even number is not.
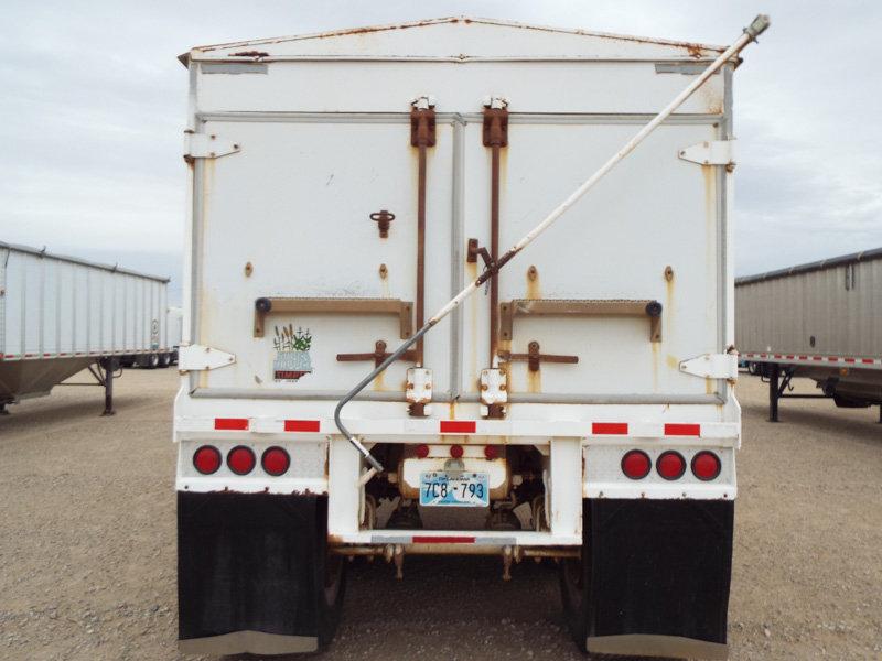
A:
[[[168,282],[0,243],[0,411],[49,394],[88,368],[105,387],[105,413],[112,413],[120,361],[159,360],[173,350],[166,340]]]

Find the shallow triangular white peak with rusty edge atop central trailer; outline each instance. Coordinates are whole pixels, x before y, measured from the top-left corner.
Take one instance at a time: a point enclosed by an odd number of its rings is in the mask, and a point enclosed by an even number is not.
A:
[[[452,17],[397,25],[353,28],[316,34],[279,36],[196,46],[179,59],[310,61],[429,59],[442,62],[588,59],[712,59],[725,46],[626,36],[584,30],[525,25],[495,19]]]

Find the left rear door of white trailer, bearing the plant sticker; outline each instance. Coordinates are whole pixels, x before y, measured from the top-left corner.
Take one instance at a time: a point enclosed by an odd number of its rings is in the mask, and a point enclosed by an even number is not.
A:
[[[427,154],[427,314],[451,284],[452,131],[437,131]],[[416,330],[418,150],[409,116],[225,118],[204,132],[240,150],[197,161],[195,173],[204,218],[196,333],[236,354],[235,365],[201,372],[200,386],[337,397],[374,367],[373,357],[352,355],[391,351]],[[384,210],[395,216],[386,238],[376,220]],[[261,299],[272,303],[267,314],[256,313]],[[435,392],[449,389],[447,323],[429,335],[424,356]],[[373,390],[400,399],[412,365],[397,362]]]

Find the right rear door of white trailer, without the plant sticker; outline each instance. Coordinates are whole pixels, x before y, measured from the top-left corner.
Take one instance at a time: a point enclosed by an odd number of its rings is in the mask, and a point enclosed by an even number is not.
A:
[[[508,147],[501,150],[501,252],[643,121],[513,112]],[[719,139],[712,121],[662,126],[501,272],[499,354],[518,401],[708,394],[704,379],[678,366],[719,350],[722,175],[719,167],[679,160],[678,152]],[[465,128],[464,237],[486,246],[491,158],[481,132],[480,123]],[[481,264],[463,269],[467,281]],[[662,305],[655,325],[647,302]],[[490,296],[467,302],[463,317],[463,388],[477,394],[476,375],[490,361]],[[534,369],[531,346],[539,357]]]

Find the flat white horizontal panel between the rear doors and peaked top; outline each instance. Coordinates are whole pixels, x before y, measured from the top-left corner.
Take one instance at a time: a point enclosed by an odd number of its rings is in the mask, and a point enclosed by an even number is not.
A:
[[[691,80],[638,63],[270,63],[267,74],[202,74],[202,112],[401,112],[421,95],[439,112],[480,112],[506,97],[519,112],[658,112]],[[721,113],[723,76],[713,75],[678,113]],[[240,140],[236,138],[236,140]],[[246,142],[243,140],[243,144]],[[247,144],[244,149],[247,149]]]

